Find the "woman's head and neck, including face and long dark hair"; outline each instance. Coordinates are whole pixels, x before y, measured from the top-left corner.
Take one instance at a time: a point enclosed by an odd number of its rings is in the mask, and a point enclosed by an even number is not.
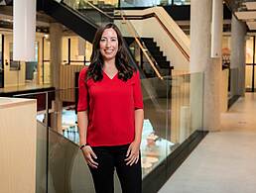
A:
[[[90,61],[87,78],[92,78],[95,81],[103,78],[102,70],[110,76],[118,73],[118,77],[124,81],[130,79],[135,71],[128,64],[121,32],[112,23],[99,28],[97,31]]]

